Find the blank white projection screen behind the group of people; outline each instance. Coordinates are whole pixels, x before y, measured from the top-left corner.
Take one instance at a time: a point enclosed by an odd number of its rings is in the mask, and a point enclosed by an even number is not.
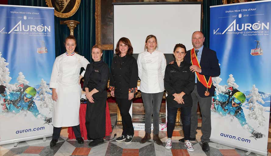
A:
[[[146,36],[157,37],[158,48],[172,54],[177,43],[192,48],[191,36],[200,30],[201,3],[112,3],[114,49],[121,37],[127,37],[134,54],[144,51]]]

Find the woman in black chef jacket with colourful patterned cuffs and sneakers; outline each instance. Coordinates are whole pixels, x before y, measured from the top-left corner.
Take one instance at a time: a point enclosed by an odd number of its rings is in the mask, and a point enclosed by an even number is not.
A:
[[[110,74],[111,96],[116,97],[122,119],[122,134],[116,141],[129,143],[134,137],[134,128],[129,109],[132,99],[137,92],[138,68],[133,54],[133,47],[128,38],[122,37],[118,40],[113,58]]]

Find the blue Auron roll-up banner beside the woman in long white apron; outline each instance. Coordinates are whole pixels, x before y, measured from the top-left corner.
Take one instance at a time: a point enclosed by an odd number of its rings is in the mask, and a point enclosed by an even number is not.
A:
[[[52,135],[54,9],[0,5],[0,144]]]

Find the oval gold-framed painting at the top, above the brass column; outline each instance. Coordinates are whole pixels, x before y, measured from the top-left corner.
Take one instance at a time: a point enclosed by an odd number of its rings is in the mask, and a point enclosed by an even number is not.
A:
[[[76,13],[81,0],[45,0],[45,2],[48,7],[55,8],[55,16],[68,18]]]

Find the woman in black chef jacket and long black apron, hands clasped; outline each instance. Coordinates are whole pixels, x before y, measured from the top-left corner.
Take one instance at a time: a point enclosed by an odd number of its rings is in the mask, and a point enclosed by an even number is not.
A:
[[[107,99],[106,85],[109,68],[103,60],[100,45],[94,45],[91,50],[93,62],[87,65],[84,76],[83,90],[86,91],[86,131],[90,146],[104,142],[105,136],[105,106]]]

